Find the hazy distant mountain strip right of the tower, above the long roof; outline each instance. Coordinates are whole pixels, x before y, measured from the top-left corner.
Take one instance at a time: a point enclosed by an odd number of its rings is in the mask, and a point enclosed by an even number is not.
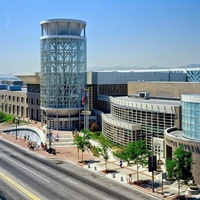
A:
[[[190,64],[186,66],[174,67],[174,68],[200,68],[200,64]],[[153,70],[153,69],[173,69],[172,67],[124,67],[124,66],[113,66],[113,67],[88,67],[88,71],[105,71],[105,70]]]

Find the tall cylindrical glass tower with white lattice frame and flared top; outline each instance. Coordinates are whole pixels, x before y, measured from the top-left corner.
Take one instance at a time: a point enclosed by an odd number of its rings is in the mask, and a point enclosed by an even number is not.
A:
[[[51,19],[40,24],[41,109],[54,129],[79,128],[86,86],[86,23]]]

